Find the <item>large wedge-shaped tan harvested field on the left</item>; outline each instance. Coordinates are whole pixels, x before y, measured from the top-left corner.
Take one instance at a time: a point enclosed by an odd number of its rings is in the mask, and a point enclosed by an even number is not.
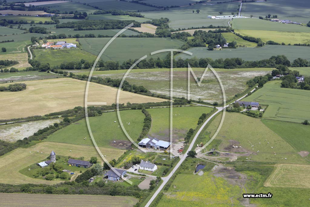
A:
[[[75,106],[84,106],[86,81],[60,78],[16,83],[26,83],[27,88],[18,92],[0,92],[0,119],[45,115],[72,109]],[[1,85],[7,86],[9,83]],[[116,103],[117,91],[118,88],[90,83],[88,101],[107,102],[107,105],[111,105]],[[128,101],[131,103],[147,103],[166,100],[122,91],[119,102],[126,104]]]

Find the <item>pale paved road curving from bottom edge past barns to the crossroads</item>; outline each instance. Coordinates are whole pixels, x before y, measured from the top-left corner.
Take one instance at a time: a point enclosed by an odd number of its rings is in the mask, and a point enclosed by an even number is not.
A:
[[[251,92],[253,92],[256,88],[254,88]],[[247,95],[247,94],[246,94]],[[246,97],[246,95],[244,95],[241,98],[238,98],[237,101],[241,100],[242,98]],[[197,105],[201,105],[201,104],[197,104]],[[201,105],[201,106],[206,106],[206,105]],[[160,193],[160,191],[163,189],[163,187],[166,185],[166,183],[170,180],[170,178],[172,177],[173,173],[175,173],[175,171],[180,167],[180,165],[183,163],[183,161],[186,159],[186,155],[189,151],[192,150],[197,137],[199,136],[199,134],[201,133],[202,129],[206,126],[206,124],[215,116],[217,115],[219,112],[221,112],[222,110],[224,110],[224,108],[226,108],[228,105],[226,106],[221,106],[221,107],[216,107],[217,111],[212,114],[203,124],[202,126],[199,128],[199,130],[197,131],[195,137],[193,138],[193,141],[190,143],[188,150],[184,153],[184,156],[181,158],[181,160],[175,165],[175,167],[173,168],[172,172],[169,173],[169,175],[167,177],[165,177],[165,179],[163,179],[162,184],[158,187],[158,189],[155,191],[155,193],[153,194],[153,196],[151,197],[151,199],[148,201],[148,203],[144,206],[144,207],[148,207],[151,205],[151,203],[153,202],[153,200],[156,198],[156,196]],[[210,107],[210,106],[209,106]],[[214,139],[215,137],[213,137]],[[211,139],[205,146],[208,146],[212,140]]]

